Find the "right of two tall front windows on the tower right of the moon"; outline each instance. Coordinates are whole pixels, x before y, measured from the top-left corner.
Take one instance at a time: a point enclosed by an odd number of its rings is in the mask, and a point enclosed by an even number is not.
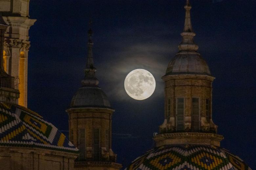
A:
[[[199,115],[199,98],[192,98],[192,115],[191,115],[192,131],[199,131],[200,129],[200,115]]]

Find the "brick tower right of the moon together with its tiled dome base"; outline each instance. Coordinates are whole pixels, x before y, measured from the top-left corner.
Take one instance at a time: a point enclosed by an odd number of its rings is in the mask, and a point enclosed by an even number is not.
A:
[[[165,76],[165,114],[154,135],[156,147],[125,170],[251,170],[239,157],[220,147],[224,139],[212,121],[212,82],[197,53],[187,0],[183,40]]]

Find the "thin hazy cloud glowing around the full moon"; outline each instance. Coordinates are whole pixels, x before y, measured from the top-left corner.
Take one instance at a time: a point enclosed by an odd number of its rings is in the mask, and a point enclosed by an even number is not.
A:
[[[156,90],[154,93],[162,95],[161,76],[164,75],[167,64],[172,58],[167,56],[174,51],[177,49],[171,48],[167,43],[161,43],[159,45],[136,44],[116,52],[113,54],[113,60],[108,60],[108,63],[101,68],[101,70],[107,71],[99,71],[100,78],[108,82],[104,89],[107,89],[107,94],[113,99],[127,99],[128,96],[123,85],[124,79],[130,71],[140,68],[148,70],[155,77]]]

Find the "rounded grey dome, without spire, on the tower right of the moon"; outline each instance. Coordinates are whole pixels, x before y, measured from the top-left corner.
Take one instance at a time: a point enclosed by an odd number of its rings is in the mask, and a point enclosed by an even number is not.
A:
[[[166,75],[211,75],[206,61],[199,53],[178,53],[168,64]]]

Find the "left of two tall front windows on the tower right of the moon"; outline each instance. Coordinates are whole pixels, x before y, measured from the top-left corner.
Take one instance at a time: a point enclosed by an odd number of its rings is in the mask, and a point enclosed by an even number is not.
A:
[[[176,130],[184,130],[184,98],[177,98]]]

